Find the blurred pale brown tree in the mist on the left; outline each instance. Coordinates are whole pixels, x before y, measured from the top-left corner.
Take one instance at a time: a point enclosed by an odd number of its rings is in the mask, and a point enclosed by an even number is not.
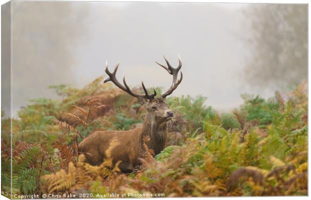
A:
[[[74,49],[87,32],[86,16],[85,3],[12,2],[12,95],[19,96],[13,115],[26,99],[56,97],[49,85],[72,83]]]

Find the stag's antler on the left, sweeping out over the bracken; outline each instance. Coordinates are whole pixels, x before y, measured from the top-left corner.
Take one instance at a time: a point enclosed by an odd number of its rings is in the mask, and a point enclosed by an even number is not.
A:
[[[157,92],[154,89],[154,87],[153,87],[153,94],[148,94],[147,89],[146,89],[146,87],[143,84],[143,81],[141,81],[141,86],[142,86],[142,89],[143,89],[145,95],[137,94],[137,93],[132,92],[130,90],[129,86],[126,84],[125,76],[123,76],[123,84],[124,85],[122,85],[115,77],[115,74],[116,74],[116,71],[117,71],[117,69],[119,67],[119,64],[120,64],[120,61],[116,64],[113,72],[111,73],[108,70],[108,64],[107,64],[107,61],[106,61],[106,69],[105,69],[105,71],[106,71],[106,73],[108,74],[109,77],[104,80],[104,83],[108,82],[108,81],[112,81],[117,87],[119,87],[120,89],[126,91],[128,94],[130,94],[132,96],[135,96],[135,97],[142,97],[142,98],[146,98],[146,99],[152,100],[154,98],[154,96],[157,95]]]

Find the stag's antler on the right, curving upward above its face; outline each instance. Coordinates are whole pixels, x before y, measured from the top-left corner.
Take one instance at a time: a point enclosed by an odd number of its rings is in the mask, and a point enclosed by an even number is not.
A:
[[[183,72],[181,71],[181,77],[180,77],[179,80],[177,80],[178,72],[179,72],[179,70],[182,68],[182,61],[181,61],[180,56],[178,56],[178,63],[179,63],[179,64],[178,64],[178,67],[177,67],[177,68],[174,68],[174,67],[170,64],[170,62],[168,61],[168,59],[167,59],[165,56],[163,56],[163,57],[164,57],[165,61],[167,62],[167,65],[168,65],[168,66],[165,66],[165,65],[163,65],[163,64],[160,64],[159,62],[156,61],[157,64],[159,64],[160,66],[162,66],[163,68],[165,68],[170,74],[173,75],[173,82],[172,82],[171,87],[170,87],[164,94],[161,95],[163,98],[165,98],[166,96],[170,95],[170,94],[177,88],[177,86],[181,83],[181,81],[182,81],[182,79],[183,79]]]

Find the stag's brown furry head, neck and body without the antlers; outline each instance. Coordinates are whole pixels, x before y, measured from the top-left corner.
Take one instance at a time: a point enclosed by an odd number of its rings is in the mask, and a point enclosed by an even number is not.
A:
[[[139,99],[143,100],[143,99]],[[172,118],[169,113],[168,103],[164,98],[154,98],[144,101],[147,110],[142,126],[131,130],[95,131],[86,137],[80,144],[79,150],[86,156],[86,161],[93,165],[100,164],[105,158],[105,151],[113,138],[117,139],[118,145],[111,151],[113,162],[121,160],[119,168],[123,172],[132,171],[136,165],[140,165],[139,158],[145,152],[143,148],[143,136],[149,136],[147,145],[160,153],[167,142],[167,121]]]

